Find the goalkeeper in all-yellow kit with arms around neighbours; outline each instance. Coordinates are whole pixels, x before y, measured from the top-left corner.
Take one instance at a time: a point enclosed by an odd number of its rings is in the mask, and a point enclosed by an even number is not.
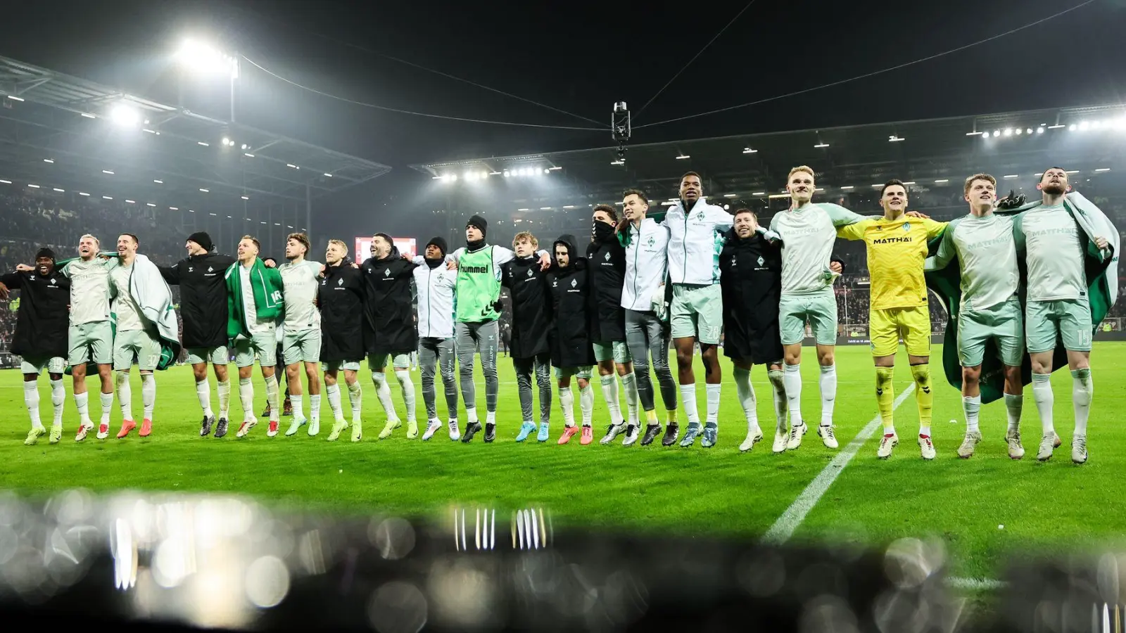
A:
[[[868,273],[872,277],[868,338],[876,363],[876,403],[884,421],[884,436],[876,455],[886,460],[900,440],[892,419],[895,399],[892,376],[902,337],[919,404],[919,448],[923,460],[933,460],[935,443],[930,437],[933,403],[929,366],[930,307],[923,262],[927,241],[940,235],[946,230],[946,223],[905,215],[908,189],[899,180],[888,180],[884,185],[879,204],[884,207],[883,217],[866,219],[837,229],[838,237],[864,240],[868,247]]]

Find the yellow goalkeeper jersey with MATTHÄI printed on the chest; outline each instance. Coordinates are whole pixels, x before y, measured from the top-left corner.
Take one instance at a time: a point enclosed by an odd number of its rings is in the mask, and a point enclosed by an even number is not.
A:
[[[896,220],[869,217],[837,229],[839,237],[864,240],[868,247],[872,310],[927,305],[927,283],[922,274],[927,240],[941,235],[945,230],[946,222],[908,215]]]

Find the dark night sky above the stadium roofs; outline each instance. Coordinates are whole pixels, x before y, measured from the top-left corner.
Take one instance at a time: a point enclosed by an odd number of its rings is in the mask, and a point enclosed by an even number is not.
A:
[[[1013,109],[1121,102],[1126,0],[1065,16],[903,70],[724,114],[766,99],[972,44],[1082,0],[779,2],[756,0],[653,102],[643,104],[745,3],[116,0],[7,3],[0,54],[175,101],[171,53],[185,35],[238,51],[298,83],[377,105],[466,118],[608,127],[634,113],[634,142],[671,141]],[[365,7],[373,8],[365,8]],[[641,9],[640,7],[645,7]],[[366,51],[365,51],[366,48]],[[443,71],[561,114],[395,62]],[[227,114],[222,82],[186,105]],[[216,84],[218,83],[218,84]],[[345,104],[248,63],[236,118],[395,168],[481,155],[611,145],[607,130],[425,118]]]

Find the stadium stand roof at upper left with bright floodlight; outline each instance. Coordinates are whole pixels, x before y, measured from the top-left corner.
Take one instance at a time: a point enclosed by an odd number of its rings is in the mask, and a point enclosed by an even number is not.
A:
[[[391,169],[8,57],[0,101],[0,179],[19,185],[258,206],[307,203]]]

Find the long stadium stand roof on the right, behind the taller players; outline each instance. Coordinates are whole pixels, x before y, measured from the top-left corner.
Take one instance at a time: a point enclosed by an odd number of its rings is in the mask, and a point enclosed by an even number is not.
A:
[[[642,137],[643,131],[634,131],[635,140]],[[783,190],[798,164],[813,167],[817,186],[828,190],[891,178],[958,186],[982,166],[1033,177],[1046,155],[1093,173],[1126,168],[1124,141],[1126,109],[1096,106],[638,144],[628,146],[624,163],[616,146],[606,146],[411,167],[446,187],[488,173],[490,180],[543,177],[596,195],[636,186],[656,198],[676,195],[680,175],[695,170],[704,175],[706,193],[748,199]]]

